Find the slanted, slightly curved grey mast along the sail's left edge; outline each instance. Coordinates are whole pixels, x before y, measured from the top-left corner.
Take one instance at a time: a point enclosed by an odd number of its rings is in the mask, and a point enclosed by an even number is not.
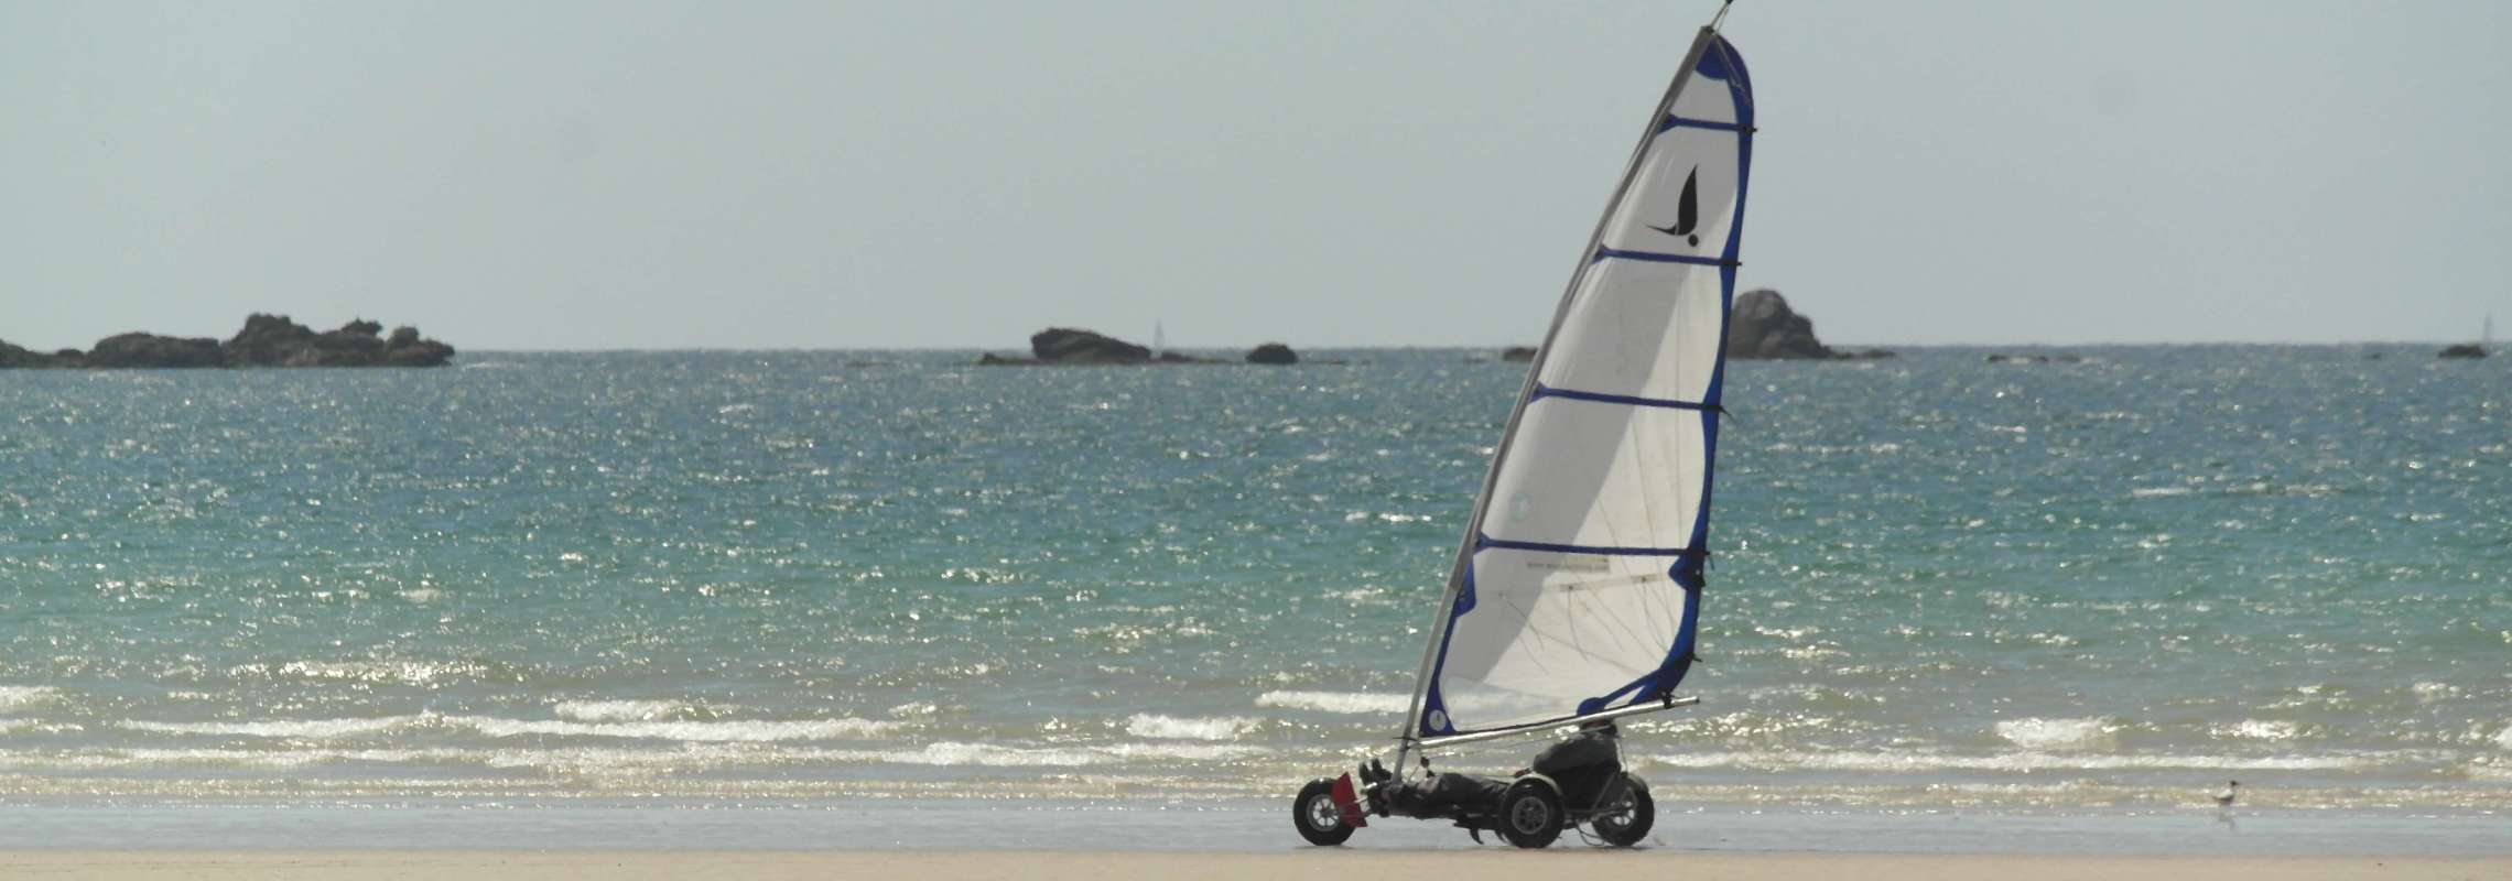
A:
[[[1630,193],[1630,183],[1640,176],[1640,163],[1648,158],[1648,146],[1650,146],[1650,141],[1655,141],[1660,120],[1665,120],[1665,115],[1673,113],[1676,95],[1681,95],[1683,85],[1691,83],[1693,68],[1701,65],[1701,55],[1718,38],[1718,23],[1721,20],[1726,20],[1726,3],[1721,3],[1718,18],[1713,18],[1708,25],[1701,28],[1698,35],[1693,35],[1691,50],[1683,53],[1683,65],[1676,68],[1673,83],[1668,83],[1665,85],[1665,95],[1658,98],[1655,113],[1648,115],[1648,125],[1640,131],[1640,141],[1638,141],[1638,146],[1630,148],[1630,161],[1623,166],[1623,178],[1620,178],[1620,183],[1615,183],[1613,198],[1605,201],[1605,213],[1598,216],[1595,231],[1588,233],[1588,246],[1580,248],[1578,269],[1570,274],[1570,284],[1562,286],[1560,304],[1552,306],[1552,324],[1545,329],[1545,339],[1535,349],[1535,359],[1527,361],[1527,382],[1520,387],[1517,402],[1510,404],[1510,422],[1507,422],[1507,427],[1500,434],[1500,447],[1492,452],[1492,467],[1482,474],[1482,489],[1475,494],[1475,515],[1467,520],[1464,537],[1457,542],[1457,562],[1449,567],[1447,590],[1439,595],[1439,605],[1434,607],[1432,625],[1429,625],[1429,640],[1422,648],[1422,665],[1414,670],[1414,693],[1412,693],[1412,700],[1409,700],[1409,705],[1404,710],[1404,728],[1397,733],[1397,743],[1399,743],[1399,748],[1397,748],[1397,773],[1399,776],[1409,776],[1407,758],[1417,748],[1424,745],[1424,740],[1422,740],[1422,710],[1424,710],[1424,703],[1429,700],[1432,685],[1437,685],[1434,683],[1437,665],[1439,665],[1442,648],[1447,645],[1447,640],[1452,635],[1452,625],[1454,625],[1454,617],[1457,617],[1454,615],[1457,597],[1464,592],[1464,585],[1467,585],[1467,580],[1472,577],[1472,570],[1475,570],[1475,537],[1482,535],[1482,520],[1485,520],[1485,510],[1490,507],[1490,499],[1492,499],[1492,487],[1500,482],[1500,469],[1510,459],[1510,444],[1517,439],[1517,427],[1520,427],[1520,422],[1527,414],[1527,404],[1535,399],[1537,379],[1545,371],[1545,359],[1552,354],[1552,341],[1555,341],[1555,336],[1560,336],[1562,319],[1570,316],[1570,306],[1578,299],[1580,284],[1588,279],[1588,271],[1595,266],[1593,256],[1598,254],[1598,248],[1605,241],[1608,223],[1613,223],[1615,211],[1620,211],[1623,198]],[[1449,740],[1449,743],[1454,743],[1454,740]]]

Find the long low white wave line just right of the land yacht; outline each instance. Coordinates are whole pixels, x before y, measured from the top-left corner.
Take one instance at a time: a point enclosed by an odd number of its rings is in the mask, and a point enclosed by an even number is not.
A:
[[[1944,756],[1944,753],[1668,753],[1643,756],[1648,763],[1668,768],[1751,768],[1751,771],[2364,771],[2381,768],[2396,756],[2085,756],[2085,753],[1997,753],[1997,756]]]

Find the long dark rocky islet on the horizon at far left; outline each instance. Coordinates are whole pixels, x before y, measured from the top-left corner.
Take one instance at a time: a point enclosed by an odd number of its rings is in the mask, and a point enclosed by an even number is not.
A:
[[[0,341],[0,366],[442,366],[455,356],[455,346],[422,339],[414,326],[397,326],[389,339],[379,339],[382,331],[382,324],[357,319],[317,334],[286,316],[254,314],[224,344],[208,336],[116,334],[98,339],[90,351],[38,354]]]

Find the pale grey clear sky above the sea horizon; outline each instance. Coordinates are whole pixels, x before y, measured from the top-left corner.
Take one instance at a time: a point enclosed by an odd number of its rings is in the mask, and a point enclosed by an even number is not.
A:
[[[1716,3],[0,3],[0,339],[1532,344]],[[1831,344],[2512,329],[2512,3],[1726,20]]]

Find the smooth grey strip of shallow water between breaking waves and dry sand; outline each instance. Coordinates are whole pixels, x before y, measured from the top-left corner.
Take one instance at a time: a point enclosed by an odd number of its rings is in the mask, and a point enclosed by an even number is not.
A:
[[[0,853],[158,851],[776,851],[1309,853],[1289,801],[1005,803],[0,803]],[[1490,836],[1485,841],[1492,841]],[[1331,853],[1507,853],[1447,823],[1379,818]],[[1565,833],[1550,853],[1595,851]],[[1595,851],[1608,853],[1608,851]],[[2512,816],[2326,811],[1816,811],[1660,803],[1658,856],[1902,853],[1982,858],[2512,858]],[[0,876],[8,876],[0,871]]]

